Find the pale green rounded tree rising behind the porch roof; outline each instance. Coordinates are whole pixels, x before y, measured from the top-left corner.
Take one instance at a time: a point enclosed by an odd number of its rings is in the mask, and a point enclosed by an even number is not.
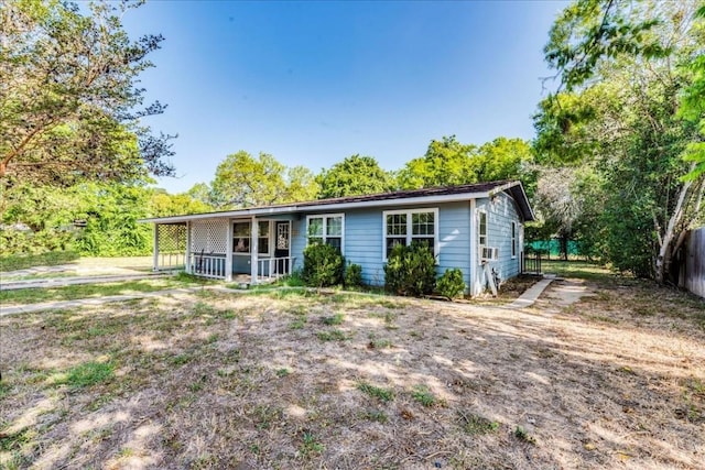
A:
[[[254,159],[241,150],[218,165],[210,184],[210,204],[217,209],[268,206],[311,200],[317,190],[308,168],[286,168],[270,154]]]

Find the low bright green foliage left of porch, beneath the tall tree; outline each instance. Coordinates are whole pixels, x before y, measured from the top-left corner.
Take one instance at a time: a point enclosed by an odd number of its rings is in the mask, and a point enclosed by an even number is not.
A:
[[[87,255],[148,254],[152,190],[144,185],[80,183],[58,190],[21,183],[4,198],[0,243],[4,254],[74,249]]]

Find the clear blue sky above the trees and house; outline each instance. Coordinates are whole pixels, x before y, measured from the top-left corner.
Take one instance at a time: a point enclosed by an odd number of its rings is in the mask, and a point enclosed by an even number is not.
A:
[[[271,153],[315,173],[355,153],[397,170],[432,139],[531,139],[558,1],[151,1],[123,21],[162,33],[142,86],[169,105],[170,193],[226,155]]]

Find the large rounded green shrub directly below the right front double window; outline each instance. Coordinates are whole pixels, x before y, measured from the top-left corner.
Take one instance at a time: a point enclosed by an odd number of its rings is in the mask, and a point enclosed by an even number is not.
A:
[[[398,244],[384,266],[384,285],[398,295],[431,294],[436,282],[435,258],[424,243]]]

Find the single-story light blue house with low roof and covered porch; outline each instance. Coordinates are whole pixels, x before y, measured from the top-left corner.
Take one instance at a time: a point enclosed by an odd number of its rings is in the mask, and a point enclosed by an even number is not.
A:
[[[394,244],[425,241],[438,274],[459,269],[476,295],[490,278],[521,272],[523,227],[533,219],[520,182],[492,182],[142,221],[154,223],[154,270],[177,260],[195,275],[248,274],[258,283],[301,269],[306,245],[323,242],[361,265],[366,283],[381,286]]]

